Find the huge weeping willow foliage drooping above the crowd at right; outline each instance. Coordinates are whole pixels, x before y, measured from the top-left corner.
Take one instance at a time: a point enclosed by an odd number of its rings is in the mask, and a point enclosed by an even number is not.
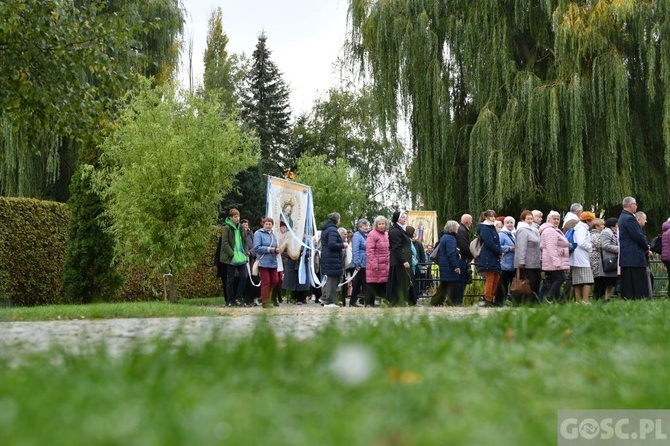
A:
[[[670,2],[350,0],[351,60],[442,217],[667,203]]]

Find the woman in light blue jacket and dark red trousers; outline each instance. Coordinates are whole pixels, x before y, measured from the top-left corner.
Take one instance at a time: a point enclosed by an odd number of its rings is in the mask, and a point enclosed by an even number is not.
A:
[[[258,257],[258,272],[261,276],[261,302],[263,308],[272,306],[272,290],[279,283],[277,273],[277,253],[279,246],[277,237],[272,232],[274,220],[264,217],[261,220],[263,227],[254,234],[254,251]]]

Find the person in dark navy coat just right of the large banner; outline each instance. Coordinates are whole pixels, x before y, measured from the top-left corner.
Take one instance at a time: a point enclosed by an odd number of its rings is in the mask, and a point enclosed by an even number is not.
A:
[[[344,273],[342,261],[343,249],[349,246],[342,240],[337,225],[340,224],[340,214],[332,212],[328,220],[321,226],[321,275],[325,284],[322,287],[321,303],[324,307],[339,307],[335,302],[337,286]]]

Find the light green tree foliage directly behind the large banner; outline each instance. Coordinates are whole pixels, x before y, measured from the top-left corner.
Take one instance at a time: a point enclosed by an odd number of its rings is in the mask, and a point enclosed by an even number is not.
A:
[[[312,187],[317,226],[331,212],[340,213],[342,226],[345,227],[353,227],[363,215],[367,192],[357,187],[361,178],[345,160],[329,160],[326,155],[303,155],[298,160],[295,180]]]

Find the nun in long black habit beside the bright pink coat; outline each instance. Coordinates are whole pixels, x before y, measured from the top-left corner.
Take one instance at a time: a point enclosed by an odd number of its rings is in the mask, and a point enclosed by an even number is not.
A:
[[[386,300],[392,306],[405,305],[414,280],[412,274],[412,241],[405,232],[407,214],[395,211],[389,229],[389,278]]]

